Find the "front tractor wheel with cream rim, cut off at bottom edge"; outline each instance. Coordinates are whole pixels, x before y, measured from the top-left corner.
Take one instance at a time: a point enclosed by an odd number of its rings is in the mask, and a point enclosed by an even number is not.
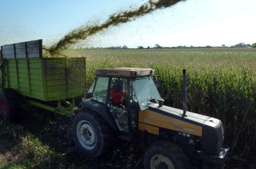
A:
[[[144,167],[148,169],[187,169],[189,161],[176,144],[158,140],[144,153]]]

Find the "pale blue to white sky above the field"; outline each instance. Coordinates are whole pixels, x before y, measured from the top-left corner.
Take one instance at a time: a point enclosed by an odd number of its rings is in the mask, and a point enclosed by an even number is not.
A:
[[[103,23],[112,13],[146,0],[0,0],[0,46],[43,39],[51,46],[79,26]],[[226,46],[256,42],[256,0],[187,0],[110,27],[75,48]]]

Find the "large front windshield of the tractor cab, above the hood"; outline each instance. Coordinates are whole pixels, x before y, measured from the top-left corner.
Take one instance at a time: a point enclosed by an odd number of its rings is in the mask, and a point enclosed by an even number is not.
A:
[[[158,103],[157,100],[161,99],[151,77],[139,77],[132,79],[132,86],[139,102],[140,110],[148,108],[148,100],[155,99],[156,103]]]

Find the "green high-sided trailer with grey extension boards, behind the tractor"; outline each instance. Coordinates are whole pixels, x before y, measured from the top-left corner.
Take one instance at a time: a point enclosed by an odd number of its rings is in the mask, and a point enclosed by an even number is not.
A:
[[[77,109],[76,98],[81,98],[86,88],[86,58],[53,58],[44,50],[42,40],[1,46],[2,95],[19,98],[17,103],[11,99],[12,104],[28,103],[71,117]],[[10,104],[3,97],[0,101],[2,107]],[[5,113],[8,120],[17,114],[6,112],[2,115]]]

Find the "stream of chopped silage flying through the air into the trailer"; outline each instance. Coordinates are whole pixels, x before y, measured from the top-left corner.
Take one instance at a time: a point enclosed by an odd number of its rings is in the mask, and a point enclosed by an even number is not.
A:
[[[105,21],[101,25],[93,25],[93,26],[82,26],[77,28],[70,33],[66,34],[57,45],[53,45],[51,47],[51,54],[53,55],[56,52],[60,52],[61,50],[67,49],[71,44],[77,43],[79,40],[85,40],[88,37],[99,33],[102,30],[107,29],[110,26],[118,26],[122,23],[130,22],[136,18],[140,18],[146,14],[149,14],[155,10],[167,8],[173,6],[181,1],[186,0],[158,0],[153,1],[149,0],[148,3],[141,5],[137,9],[126,10],[119,13],[112,14],[107,21]]]

